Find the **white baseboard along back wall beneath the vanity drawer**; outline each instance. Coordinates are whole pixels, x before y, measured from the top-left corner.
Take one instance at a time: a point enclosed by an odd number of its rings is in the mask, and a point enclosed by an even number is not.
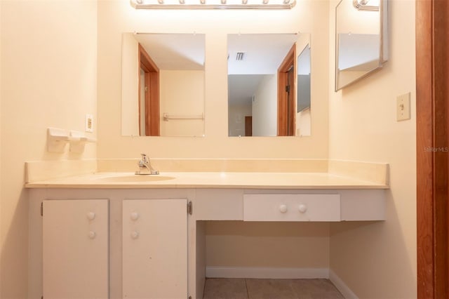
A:
[[[206,267],[208,278],[329,278],[328,268]]]

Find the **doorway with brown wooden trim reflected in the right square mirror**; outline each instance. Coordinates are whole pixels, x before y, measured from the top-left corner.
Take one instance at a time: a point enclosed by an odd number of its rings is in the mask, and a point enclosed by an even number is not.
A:
[[[295,57],[293,44],[278,69],[278,136],[295,135]]]

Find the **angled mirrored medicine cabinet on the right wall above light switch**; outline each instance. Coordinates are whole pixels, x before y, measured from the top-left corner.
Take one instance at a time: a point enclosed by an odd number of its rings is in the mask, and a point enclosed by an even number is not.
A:
[[[335,9],[335,91],[388,59],[387,1],[342,0]]]

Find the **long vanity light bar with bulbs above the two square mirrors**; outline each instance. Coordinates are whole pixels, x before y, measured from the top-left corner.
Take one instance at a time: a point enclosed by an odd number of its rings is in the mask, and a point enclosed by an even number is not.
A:
[[[136,9],[290,9],[296,0],[130,0],[130,4]]]

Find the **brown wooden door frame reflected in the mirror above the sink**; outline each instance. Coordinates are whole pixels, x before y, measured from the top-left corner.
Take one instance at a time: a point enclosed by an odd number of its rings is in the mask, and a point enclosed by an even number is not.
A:
[[[140,69],[145,72],[145,86],[149,86],[149,93],[145,93],[145,135],[160,135],[160,112],[159,112],[159,67],[149,57],[145,48],[139,44],[139,119],[140,119]],[[139,121],[139,131],[140,121]]]

